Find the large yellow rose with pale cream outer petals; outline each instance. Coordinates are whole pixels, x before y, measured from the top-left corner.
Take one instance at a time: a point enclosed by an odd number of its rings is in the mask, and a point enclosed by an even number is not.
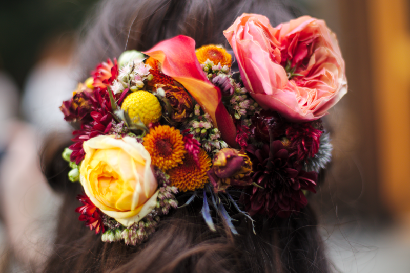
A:
[[[125,226],[155,208],[158,184],[144,145],[131,137],[99,135],[83,147],[80,182],[96,207]]]

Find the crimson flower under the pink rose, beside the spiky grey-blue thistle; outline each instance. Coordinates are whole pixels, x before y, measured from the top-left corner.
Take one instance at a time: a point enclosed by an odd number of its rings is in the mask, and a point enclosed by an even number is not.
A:
[[[295,123],[286,129],[289,139],[290,156],[296,156],[297,161],[308,160],[319,151],[320,136],[323,131],[320,121]]]

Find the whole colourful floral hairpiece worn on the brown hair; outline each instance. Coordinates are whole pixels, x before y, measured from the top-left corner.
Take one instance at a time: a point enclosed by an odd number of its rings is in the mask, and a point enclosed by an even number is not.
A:
[[[309,16],[274,28],[257,14],[223,33],[239,72],[220,45],[177,36],[98,64],[61,105],[80,124],[63,153],[84,188],[76,212],[103,241],[144,241],[178,192],[182,206],[203,200],[211,230],[212,208],[234,234],[227,206],[253,223],[298,213],[315,193],[332,151],[320,118],[347,92],[336,36]]]

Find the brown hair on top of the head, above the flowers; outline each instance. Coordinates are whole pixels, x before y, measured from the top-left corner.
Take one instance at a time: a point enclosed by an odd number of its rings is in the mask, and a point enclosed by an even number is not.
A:
[[[299,15],[292,0],[104,1],[82,33],[81,79],[107,58],[118,58],[125,50],[148,50],[177,35],[194,38],[197,48],[210,43],[229,47],[222,32],[243,12],[265,15],[273,26]]]

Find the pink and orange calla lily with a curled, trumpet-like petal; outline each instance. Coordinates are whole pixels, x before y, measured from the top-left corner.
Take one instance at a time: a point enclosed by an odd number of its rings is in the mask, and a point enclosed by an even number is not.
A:
[[[162,73],[181,83],[201,108],[209,113],[222,139],[231,147],[237,146],[233,119],[222,104],[220,89],[208,80],[199,64],[194,39],[179,35],[159,42],[142,53],[158,60],[162,64]]]

